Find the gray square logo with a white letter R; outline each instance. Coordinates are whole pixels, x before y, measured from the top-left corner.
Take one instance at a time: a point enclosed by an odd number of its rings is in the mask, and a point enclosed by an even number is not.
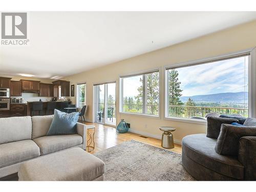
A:
[[[27,39],[27,13],[2,13],[2,39]]]

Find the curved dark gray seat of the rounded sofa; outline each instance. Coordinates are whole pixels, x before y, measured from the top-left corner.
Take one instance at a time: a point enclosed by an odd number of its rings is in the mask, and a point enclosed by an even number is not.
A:
[[[224,156],[215,152],[216,139],[205,134],[188,135],[182,139],[182,151],[198,164],[219,174],[235,178],[244,178],[244,166],[237,157]]]

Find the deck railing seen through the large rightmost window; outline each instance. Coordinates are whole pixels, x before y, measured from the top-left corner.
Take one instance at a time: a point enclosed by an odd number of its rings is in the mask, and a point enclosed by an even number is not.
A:
[[[169,117],[205,117],[207,113],[217,114],[239,114],[244,117],[248,117],[248,108],[222,108],[217,106],[180,106],[169,105],[168,116]]]

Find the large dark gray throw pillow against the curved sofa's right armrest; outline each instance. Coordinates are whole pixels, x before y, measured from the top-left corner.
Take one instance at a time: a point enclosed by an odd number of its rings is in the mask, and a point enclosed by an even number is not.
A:
[[[256,126],[222,124],[215,146],[216,153],[237,156],[239,139],[244,136],[256,136]]]

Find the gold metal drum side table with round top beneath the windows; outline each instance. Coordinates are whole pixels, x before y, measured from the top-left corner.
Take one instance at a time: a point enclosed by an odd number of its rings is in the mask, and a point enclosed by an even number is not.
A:
[[[161,146],[164,148],[174,148],[174,136],[172,132],[176,129],[170,126],[161,126],[159,129],[163,131]]]

